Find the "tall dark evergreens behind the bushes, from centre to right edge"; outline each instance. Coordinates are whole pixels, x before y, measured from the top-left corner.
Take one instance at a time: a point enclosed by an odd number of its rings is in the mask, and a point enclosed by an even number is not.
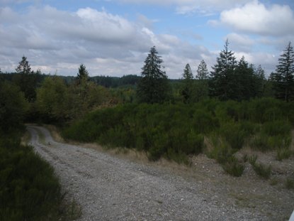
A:
[[[141,102],[166,102],[171,99],[166,72],[162,70],[163,60],[155,47],[151,48],[142,68],[142,80],[137,87]],[[197,74],[193,77],[189,64],[183,70],[180,95],[185,103],[215,97],[220,100],[249,100],[256,97],[276,97],[285,101],[294,99],[294,51],[291,43],[278,59],[276,72],[266,80],[264,70],[249,64],[244,57],[239,61],[229,49],[229,42],[217,57],[213,71],[201,60]]]

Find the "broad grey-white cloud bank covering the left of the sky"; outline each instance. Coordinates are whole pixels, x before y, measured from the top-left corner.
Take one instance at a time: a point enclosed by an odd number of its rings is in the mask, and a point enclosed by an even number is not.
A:
[[[6,15],[11,17],[6,17]],[[76,12],[51,6],[30,7],[23,14],[0,8],[0,67],[13,71],[22,55],[33,69],[76,75],[84,63],[90,75],[140,75],[149,49],[156,45],[166,72],[178,78],[187,62],[210,52],[170,34],[156,34],[144,23],[128,21],[106,11]]]

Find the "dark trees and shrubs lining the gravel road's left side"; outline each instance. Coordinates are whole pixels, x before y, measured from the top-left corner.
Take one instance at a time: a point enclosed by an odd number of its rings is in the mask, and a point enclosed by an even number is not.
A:
[[[64,199],[49,163],[21,144],[29,109],[21,89],[0,82],[0,220],[73,220],[77,205]],[[72,212],[74,211],[74,212]]]

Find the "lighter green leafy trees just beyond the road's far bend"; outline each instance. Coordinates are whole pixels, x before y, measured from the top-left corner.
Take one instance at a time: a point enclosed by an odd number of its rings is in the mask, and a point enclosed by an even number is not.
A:
[[[62,77],[46,77],[37,90],[35,107],[45,122],[59,122],[83,117],[86,112],[106,102],[105,88],[86,79],[67,86]]]

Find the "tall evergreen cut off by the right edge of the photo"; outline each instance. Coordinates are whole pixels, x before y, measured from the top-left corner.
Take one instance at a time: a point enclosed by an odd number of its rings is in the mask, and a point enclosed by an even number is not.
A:
[[[278,59],[273,82],[277,98],[287,102],[294,98],[294,50],[291,42]]]

